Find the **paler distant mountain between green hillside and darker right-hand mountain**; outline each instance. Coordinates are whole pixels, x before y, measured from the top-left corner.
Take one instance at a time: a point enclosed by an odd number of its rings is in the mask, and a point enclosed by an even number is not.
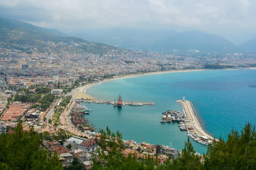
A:
[[[166,36],[177,34],[170,29],[113,28],[105,30],[85,30],[73,34],[93,42],[102,42],[131,50],[154,50],[154,44]],[[70,33],[72,34],[72,33]]]

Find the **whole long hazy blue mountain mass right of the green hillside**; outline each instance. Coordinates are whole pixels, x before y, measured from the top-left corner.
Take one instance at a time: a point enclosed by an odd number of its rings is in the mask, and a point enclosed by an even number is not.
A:
[[[177,32],[170,29],[128,29],[87,30],[77,35],[90,41],[102,42],[117,47],[159,51],[168,53],[178,51],[215,51],[239,52],[241,49],[232,42],[216,35],[202,31]]]

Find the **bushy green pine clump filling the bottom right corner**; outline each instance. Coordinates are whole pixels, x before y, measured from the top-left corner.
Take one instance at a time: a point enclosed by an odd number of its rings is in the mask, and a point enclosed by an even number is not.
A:
[[[227,142],[220,139],[208,147],[205,158],[208,170],[255,170],[256,131],[247,123],[241,133],[234,129],[228,134]]]

